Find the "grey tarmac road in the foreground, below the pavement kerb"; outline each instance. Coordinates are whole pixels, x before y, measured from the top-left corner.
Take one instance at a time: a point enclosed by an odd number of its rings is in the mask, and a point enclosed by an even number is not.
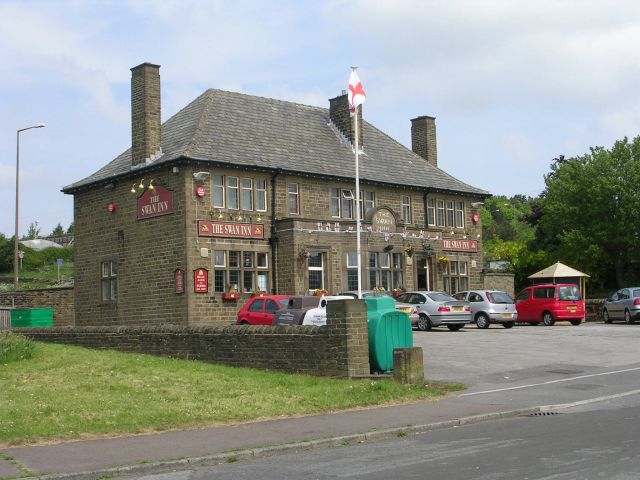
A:
[[[139,480],[637,480],[640,397]]]

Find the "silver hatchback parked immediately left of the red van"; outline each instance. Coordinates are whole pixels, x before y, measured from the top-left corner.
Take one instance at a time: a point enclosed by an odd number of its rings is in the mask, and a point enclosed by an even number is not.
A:
[[[505,292],[470,290],[458,292],[453,297],[469,302],[471,316],[478,328],[489,328],[492,323],[501,323],[504,328],[511,328],[518,320],[516,304]]]

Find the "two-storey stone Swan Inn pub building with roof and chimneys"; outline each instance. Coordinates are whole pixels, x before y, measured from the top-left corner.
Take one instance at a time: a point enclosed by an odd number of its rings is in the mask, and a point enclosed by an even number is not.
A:
[[[161,125],[160,67],[133,69],[132,145],[74,196],[75,324],[222,325],[253,292],[482,287],[476,202],[438,168],[435,119],[412,150],[329,108],[210,89]],[[360,119],[361,120],[361,119]]]

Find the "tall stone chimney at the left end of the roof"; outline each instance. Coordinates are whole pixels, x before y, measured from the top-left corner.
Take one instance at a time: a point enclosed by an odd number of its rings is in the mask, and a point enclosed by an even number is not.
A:
[[[131,165],[160,152],[160,65],[143,63],[131,69]]]

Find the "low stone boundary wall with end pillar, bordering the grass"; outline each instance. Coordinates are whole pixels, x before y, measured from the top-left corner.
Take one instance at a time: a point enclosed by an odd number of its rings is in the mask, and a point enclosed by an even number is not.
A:
[[[41,342],[336,377],[369,371],[363,301],[330,302],[327,325],[189,327],[120,326],[16,329]]]

